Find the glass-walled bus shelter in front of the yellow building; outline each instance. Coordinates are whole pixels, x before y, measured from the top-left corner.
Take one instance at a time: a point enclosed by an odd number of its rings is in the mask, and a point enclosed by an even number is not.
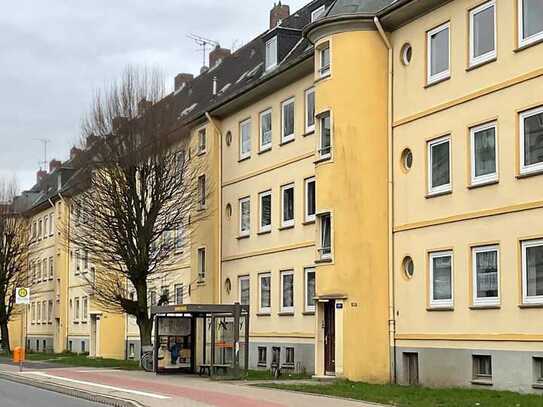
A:
[[[152,306],[157,374],[199,373],[241,378],[249,368],[249,306]]]

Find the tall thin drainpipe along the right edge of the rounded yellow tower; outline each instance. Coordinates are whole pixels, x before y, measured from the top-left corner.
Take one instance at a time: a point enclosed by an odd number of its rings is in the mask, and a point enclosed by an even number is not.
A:
[[[389,346],[390,350],[390,381],[396,383],[396,317],[395,317],[395,285],[394,285],[394,148],[392,144],[392,118],[393,118],[393,79],[394,79],[394,67],[393,67],[393,53],[392,45],[383,30],[383,26],[379,21],[379,18],[374,17],[373,22],[383,39],[385,46],[388,49],[388,333],[389,333]]]

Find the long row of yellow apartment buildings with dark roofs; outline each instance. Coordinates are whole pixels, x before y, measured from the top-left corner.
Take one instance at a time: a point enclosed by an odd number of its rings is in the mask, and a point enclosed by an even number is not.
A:
[[[176,77],[211,215],[152,292],[249,304],[251,367],[539,391],[541,61],[539,0],[275,5]],[[133,321],[93,304],[59,242],[70,161],[52,170],[29,345],[135,357]]]

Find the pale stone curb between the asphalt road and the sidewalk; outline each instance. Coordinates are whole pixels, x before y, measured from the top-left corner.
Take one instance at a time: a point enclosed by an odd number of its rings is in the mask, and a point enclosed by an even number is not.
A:
[[[91,401],[111,407],[145,407],[143,404],[140,404],[133,400],[121,399],[98,393],[91,393],[88,390],[81,390],[75,387],[45,382],[42,380],[30,378],[28,376],[22,377],[19,374],[8,373],[6,371],[0,371],[0,379],[8,380],[10,382],[22,384],[25,386],[36,387],[42,390],[60,393],[66,396],[83,399],[86,401]]]

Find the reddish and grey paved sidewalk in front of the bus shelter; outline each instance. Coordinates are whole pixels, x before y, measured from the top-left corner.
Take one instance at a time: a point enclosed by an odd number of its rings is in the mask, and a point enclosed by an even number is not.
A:
[[[156,376],[143,371],[72,367],[37,369],[36,364],[33,364],[19,373],[16,366],[0,364],[0,372],[9,373],[19,379],[24,378],[28,384],[39,382],[59,385],[88,393],[132,400],[147,407],[375,406],[371,403],[257,388],[247,385],[247,382],[218,382],[186,375]]]

